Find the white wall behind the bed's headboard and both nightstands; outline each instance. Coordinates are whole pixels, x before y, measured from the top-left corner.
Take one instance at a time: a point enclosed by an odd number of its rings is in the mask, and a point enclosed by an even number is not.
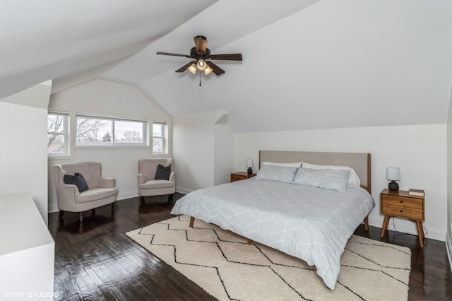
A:
[[[383,225],[379,194],[388,187],[386,167],[400,167],[401,190],[425,190],[426,236],[446,238],[446,124],[239,133],[235,134],[235,169],[244,170],[246,158],[253,158],[257,171],[260,150],[371,153],[371,195],[376,206],[369,224]],[[417,235],[410,220],[396,218],[395,223],[397,230]],[[389,229],[393,230],[392,222]]]

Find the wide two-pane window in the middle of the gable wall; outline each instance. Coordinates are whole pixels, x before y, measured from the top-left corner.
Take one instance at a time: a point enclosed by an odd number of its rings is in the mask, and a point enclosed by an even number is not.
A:
[[[144,146],[146,122],[77,116],[76,146]]]

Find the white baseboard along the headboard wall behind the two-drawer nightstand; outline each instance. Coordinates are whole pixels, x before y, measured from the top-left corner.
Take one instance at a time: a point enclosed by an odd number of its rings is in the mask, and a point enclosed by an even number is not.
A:
[[[396,228],[394,228],[394,224],[396,225]],[[369,217],[369,225],[381,228],[383,225],[383,216],[381,216],[381,218]],[[423,226],[425,227],[425,225]],[[405,218],[391,218],[391,220],[389,220],[388,230],[417,235],[416,223],[411,220],[406,220]],[[446,232],[434,228],[428,228],[427,232],[425,232],[425,237],[444,242],[446,241]]]

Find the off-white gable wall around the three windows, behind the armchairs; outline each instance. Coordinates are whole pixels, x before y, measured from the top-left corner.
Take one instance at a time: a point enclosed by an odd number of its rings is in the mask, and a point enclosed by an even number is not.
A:
[[[171,117],[141,93],[138,88],[100,79],[55,93],[50,98],[49,110],[69,112],[72,127],[75,127],[76,113],[146,119],[149,126],[148,133],[152,130],[154,120],[166,121],[169,129],[172,124]],[[169,141],[172,139],[171,134],[169,132]],[[73,137],[71,142],[73,142]],[[171,152],[172,143],[169,143],[169,153],[163,157],[171,157]],[[119,190],[118,199],[121,200],[138,196],[138,159],[151,156],[153,156],[152,147],[143,146],[136,148],[72,148],[69,158],[49,158],[49,211],[58,211],[52,165],[88,160],[100,162],[102,175],[116,178]]]

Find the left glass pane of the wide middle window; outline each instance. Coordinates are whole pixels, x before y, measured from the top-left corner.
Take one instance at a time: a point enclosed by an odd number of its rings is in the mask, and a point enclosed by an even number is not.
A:
[[[112,121],[77,117],[77,142],[111,143]]]

